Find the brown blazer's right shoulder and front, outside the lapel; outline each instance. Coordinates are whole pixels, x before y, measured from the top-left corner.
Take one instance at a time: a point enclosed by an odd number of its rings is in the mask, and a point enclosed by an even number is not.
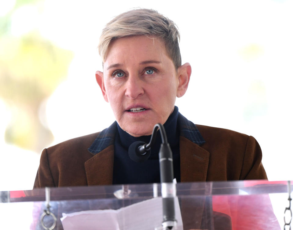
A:
[[[206,141],[201,147],[210,152],[207,180],[267,179],[262,151],[254,137],[228,129],[196,126]]]

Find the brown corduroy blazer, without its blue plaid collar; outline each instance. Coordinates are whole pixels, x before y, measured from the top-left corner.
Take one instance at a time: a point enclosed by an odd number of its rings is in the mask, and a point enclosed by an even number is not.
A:
[[[180,136],[181,182],[267,179],[254,137],[196,125],[205,143]],[[93,155],[88,148],[99,133],[45,148],[34,188],[112,184],[114,145]]]

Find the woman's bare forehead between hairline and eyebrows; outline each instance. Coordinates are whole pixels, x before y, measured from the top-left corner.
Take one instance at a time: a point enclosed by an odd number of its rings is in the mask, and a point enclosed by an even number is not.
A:
[[[170,58],[166,54],[163,41],[145,35],[129,36],[113,40],[107,51],[104,65],[127,61],[145,61]]]

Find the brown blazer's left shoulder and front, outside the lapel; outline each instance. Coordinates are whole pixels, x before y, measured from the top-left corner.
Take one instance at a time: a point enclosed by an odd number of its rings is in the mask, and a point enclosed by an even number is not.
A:
[[[76,137],[45,148],[34,188],[86,185],[84,162],[93,157],[88,148],[99,133]]]

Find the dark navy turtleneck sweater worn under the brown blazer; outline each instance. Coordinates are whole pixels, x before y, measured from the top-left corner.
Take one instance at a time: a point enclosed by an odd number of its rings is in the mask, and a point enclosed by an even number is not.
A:
[[[179,130],[177,127],[178,107],[164,124],[168,142],[173,153],[174,177],[180,182],[180,157],[179,157]],[[162,143],[161,135],[157,133],[156,143],[151,149],[151,155],[145,162],[134,162],[128,156],[128,148],[135,141],[148,143],[151,136],[133,137],[120,128],[114,141],[114,168],[113,184],[146,184],[160,183],[159,149]]]

